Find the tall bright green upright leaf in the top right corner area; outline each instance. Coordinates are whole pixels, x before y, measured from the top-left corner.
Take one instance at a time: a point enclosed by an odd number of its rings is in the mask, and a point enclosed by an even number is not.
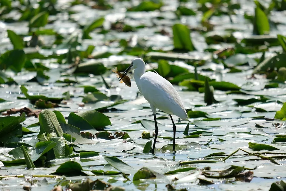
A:
[[[270,25],[268,18],[265,13],[259,8],[255,8],[254,24],[253,24],[253,34],[264,35],[269,34]]]

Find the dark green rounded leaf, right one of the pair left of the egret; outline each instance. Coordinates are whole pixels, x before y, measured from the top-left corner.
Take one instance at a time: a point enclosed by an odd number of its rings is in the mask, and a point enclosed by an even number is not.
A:
[[[76,113],[76,115],[88,121],[94,129],[103,129],[106,126],[111,125],[109,118],[98,111],[84,111]]]

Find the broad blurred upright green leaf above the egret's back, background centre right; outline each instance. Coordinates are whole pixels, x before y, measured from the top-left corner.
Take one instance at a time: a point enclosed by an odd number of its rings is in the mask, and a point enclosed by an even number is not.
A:
[[[183,24],[173,25],[174,48],[177,50],[193,51],[195,47],[192,43],[190,30]]]

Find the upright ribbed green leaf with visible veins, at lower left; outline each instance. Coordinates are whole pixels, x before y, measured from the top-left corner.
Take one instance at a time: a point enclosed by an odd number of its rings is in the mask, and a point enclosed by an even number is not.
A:
[[[50,110],[43,110],[39,115],[40,121],[40,134],[43,132],[55,133],[57,137],[63,136],[63,130],[60,127],[60,123],[57,120],[57,116]]]

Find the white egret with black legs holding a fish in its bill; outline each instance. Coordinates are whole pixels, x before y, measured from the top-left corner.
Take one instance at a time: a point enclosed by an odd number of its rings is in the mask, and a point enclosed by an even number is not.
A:
[[[176,125],[173,121],[172,115],[177,115],[183,120],[187,120],[188,115],[184,108],[182,99],[172,84],[157,73],[145,72],[145,64],[146,63],[141,58],[135,58],[131,62],[130,66],[124,71],[124,75],[120,79],[134,69],[136,85],[140,93],[150,104],[155,121],[155,138],[152,153],[154,154],[156,139],[158,136],[156,108],[170,115],[174,131],[173,151],[175,151]]]

